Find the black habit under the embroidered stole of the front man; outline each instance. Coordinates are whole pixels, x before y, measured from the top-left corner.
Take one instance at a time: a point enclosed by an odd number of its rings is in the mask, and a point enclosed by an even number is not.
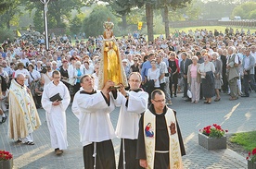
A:
[[[156,146],[155,151],[169,151],[169,136],[168,136],[168,128],[166,125],[165,114],[167,112],[167,107],[163,109],[163,113],[161,115],[157,115],[155,113],[154,105],[151,104],[149,107],[149,111],[156,115]],[[176,118],[176,112],[174,112]],[[139,133],[138,133],[138,141],[137,141],[137,152],[136,159],[147,159],[146,149],[145,149],[145,138],[144,138],[144,114],[141,115],[139,121]],[[181,155],[186,155],[184,142],[182,139],[180,127],[176,118],[176,126],[178,132],[178,138],[180,142]],[[169,152],[159,153],[155,152],[155,163],[154,169],[167,169],[169,168]]]

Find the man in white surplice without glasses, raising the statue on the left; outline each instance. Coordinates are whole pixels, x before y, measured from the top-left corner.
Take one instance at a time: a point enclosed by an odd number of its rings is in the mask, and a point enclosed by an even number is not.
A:
[[[80,83],[83,90],[75,94],[72,112],[79,119],[84,168],[116,168],[111,141],[115,132],[109,118],[109,113],[115,109],[109,96],[114,82],[107,81],[102,91],[94,90],[94,80],[90,75],[84,75]]]

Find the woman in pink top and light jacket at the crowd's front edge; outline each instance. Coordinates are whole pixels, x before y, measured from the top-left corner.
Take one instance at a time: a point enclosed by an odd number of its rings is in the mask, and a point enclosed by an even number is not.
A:
[[[198,64],[198,56],[192,57],[192,64],[187,69],[187,83],[190,85],[192,93],[191,103],[198,103],[200,99],[200,83],[201,76],[198,73],[200,64]]]

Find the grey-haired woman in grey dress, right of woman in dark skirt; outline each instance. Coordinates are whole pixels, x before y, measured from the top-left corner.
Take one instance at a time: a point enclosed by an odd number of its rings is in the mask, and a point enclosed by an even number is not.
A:
[[[212,53],[212,63],[215,66],[214,72],[214,89],[216,93],[216,98],[214,102],[219,102],[221,100],[220,90],[222,89],[222,72],[223,72],[223,64],[222,61],[218,59],[218,53]]]

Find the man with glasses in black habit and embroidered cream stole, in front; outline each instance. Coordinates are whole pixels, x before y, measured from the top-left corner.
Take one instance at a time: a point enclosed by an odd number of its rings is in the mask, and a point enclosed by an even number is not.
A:
[[[140,118],[136,158],[143,168],[183,168],[186,151],[175,112],[163,91],[152,91],[151,102]]]

